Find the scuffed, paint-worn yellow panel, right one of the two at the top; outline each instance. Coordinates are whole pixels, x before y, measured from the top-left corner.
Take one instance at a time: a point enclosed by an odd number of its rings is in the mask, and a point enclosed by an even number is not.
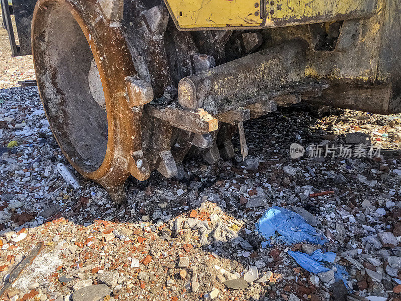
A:
[[[376,8],[377,0],[267,0],[266,27],[354,19]]]

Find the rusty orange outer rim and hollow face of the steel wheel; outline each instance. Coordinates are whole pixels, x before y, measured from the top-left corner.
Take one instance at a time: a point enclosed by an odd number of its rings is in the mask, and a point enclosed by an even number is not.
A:
[[[42,102],[64,155],[122,203],[127,177],[144,181],[150,175],[141,142],[140,101],[146,93],[127,97],[129,79],[136,76],[132,58],[121,28],[99,12],[95,0],[39,0],[33,57]]]

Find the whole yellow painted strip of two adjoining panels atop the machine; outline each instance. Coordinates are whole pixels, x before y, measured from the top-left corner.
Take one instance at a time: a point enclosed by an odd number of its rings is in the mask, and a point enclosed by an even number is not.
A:
[[[366,17],[376,0],[165,0],[181,30],[266,28]]]

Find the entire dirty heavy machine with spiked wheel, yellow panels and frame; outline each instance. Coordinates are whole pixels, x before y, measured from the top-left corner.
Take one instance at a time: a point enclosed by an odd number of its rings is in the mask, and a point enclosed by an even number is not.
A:
[[[191,149],[210,164],[234,158],[237,131],[246,157],[243,122],[277,106],[400,112],[400,9],[398,0],[39,0],[23,15],[33,13],[39,91],[60,147],[122,203],[129,175],[179,178]]]

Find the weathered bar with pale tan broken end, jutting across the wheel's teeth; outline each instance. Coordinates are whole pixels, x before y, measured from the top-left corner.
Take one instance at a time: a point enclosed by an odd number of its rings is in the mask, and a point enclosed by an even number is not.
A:
[[[198,109],[196,112],[179,108],[178,106],[146,105],[146,113],[150,116],[167,121],[172,126],[184,129],[190,132],[206,134],[217,130],[218,120],[213,118],[204,109]]]

